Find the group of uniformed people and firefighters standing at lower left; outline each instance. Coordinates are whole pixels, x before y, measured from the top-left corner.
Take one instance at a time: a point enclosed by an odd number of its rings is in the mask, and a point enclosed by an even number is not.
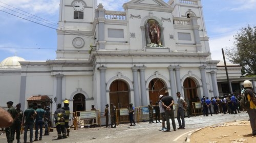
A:
[[[69,101],[65,100],[64,106],[61,108],[61,104],[57,105],[57,110],[54,112],[56,129],[58,132],[58,139],[67,138],[69,136]],[[27,142],[27,133],[29,132],[29,142],[42,140],[43,126],[45,125],[45,134],[49,135],[49,126],[51,123],[50,106],[46,106],[42,109],[40,104],[36,107],[33,104],[29,104],[28,109],[24,112],[20,109],[21,103],[16,105],[16,109],[13,107],[13,102],[7,102],[9,114],[11,115],[12,122],[10,125],[6,125],[5,132],[7,142],[12,143],[16,133],[17,143],[20,143],[20,130],[24,127],[24,142]],[[8,115],[8,114],[7,114]],[[7,116],[8,117],[8,116]],[[35,127],[35,139],[33,140],[33,128]],[[39,137],[38,137],[39,130]],[[66,134],[67,131],[67,134]],[[62,133],[62,135],[61,135]]]

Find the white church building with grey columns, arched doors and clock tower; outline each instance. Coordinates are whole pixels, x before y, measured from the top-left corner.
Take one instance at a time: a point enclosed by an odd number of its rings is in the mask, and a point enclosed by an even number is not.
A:
[[[219,96],[200,0],[132,0],[108,11],[96,0],[60,1],[56,59],[0,65],[0,106],[70,102],[71,112],[104,112],[155,103],[168,91],[177,101]],[[238,69],[239,71],[239,69]],[[241,71],[240,71],[241,72]],[[54,103],[54,101],[53,101]],[[56,108],[53,104],[53,110]]]

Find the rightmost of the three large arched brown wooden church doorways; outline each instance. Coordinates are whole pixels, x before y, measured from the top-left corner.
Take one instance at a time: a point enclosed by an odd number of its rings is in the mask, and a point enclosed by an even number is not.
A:
[[[184,83],[184,96],[185,96],[185,101],[191,101],[192,99],[197,98],[197,83],[195,82],[194,79],[192,78],[186,78]]]

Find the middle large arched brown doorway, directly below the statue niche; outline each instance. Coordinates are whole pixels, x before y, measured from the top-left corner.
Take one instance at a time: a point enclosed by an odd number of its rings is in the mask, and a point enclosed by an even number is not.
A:
[[[154,78],[150,81],[150,84],[148,85],[148,89],[149,89],[149,96],[150,96],[150,100],[153,101],[153,104],[155,105],[155,103],[157,101],[159,101],[159,95],[164,95],[166,86],[164,84],[164,82],[159,79],[159,78]]]

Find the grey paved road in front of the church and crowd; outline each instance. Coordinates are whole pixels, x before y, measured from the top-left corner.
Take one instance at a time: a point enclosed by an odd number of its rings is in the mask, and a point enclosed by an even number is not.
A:
[[[197,116],[185,118],[185,130],[177,130],[170,132],[159,131],[161,123],[149,124],[148,122],[137,123],[136,126],[129,126],[130,124],[121,124],[117,128],[78,128],[78,130],[71,129],[70,137],[66,139],[57,140],[57,132],[50,132],[49,136],[43,136],[41,142],[186,142],[186,138],[192,132],[207,126],[217,125],[225,122],[233,122],[237,120],[248,120],[248,114],[241,112],[236,115],[213,115],[209,117]],[[175,119],[178,128],[177,119]],[[28,135],[29,136],[29,135]],[[34,135],[33,135],[34,136]],[[20,141],[23,142],[23,135]],[[33,138],[34,139],[34,138]],[[0,142],[7,142],[6,135],[0,135]],[[16,140],[14,141],[16,142]]]

